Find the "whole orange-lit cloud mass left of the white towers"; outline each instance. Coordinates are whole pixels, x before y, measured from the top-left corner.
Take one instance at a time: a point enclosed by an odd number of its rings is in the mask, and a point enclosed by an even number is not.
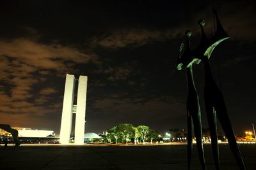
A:
[[[95,55],[80,52],[72,46],[45,45],[35,39],[0,41],[0,46],[0,114],[3,124],[13,120],[15,125],[19,118],[19,122],[31,120],[29,115],[42,117],[46,113],[60,113],[61,99],[52,96],[58,91],[53,87],[42,87],[36,92],[36,85],[46,81],[45,75],[50,76],[52,71],[56,76],[65,76],[70,70],[76,71],[75,64],[97,61]],[[42,106],[53,99],[54,104]],[[10,114],[15,114],[15,119],[10,119]]]

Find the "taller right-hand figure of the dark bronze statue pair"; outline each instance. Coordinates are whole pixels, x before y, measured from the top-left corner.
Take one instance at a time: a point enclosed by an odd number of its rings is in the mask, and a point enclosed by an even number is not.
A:
[[[214,162],[215,162],[216,169],[220,169],[218,138],[217,138],[218,137],[217,136],[217,119],[216,119],[217,117],[218,117],[218,120],[220,121],[223,131],[225,132],[225,136],[227,136],[229,146],[233,152],[233,155],[237,161],[239,168],[245,169],[243,158],[237,146],[232,125],[227,114],[227,108],[225,105],[223,94],[221,93],[221,90],[218,88],[218,85],[216,85],[216,82],[214,81],[214,78],[211,73],[211,67],[209,66],[209,62],[208,62],[214,48],[218,44],[220,44],[222,41],[229,38],[228,34],[224,31],[223,27],[220,24],[220,20],[218,18],[216,11],[214,11],[214,16],[216,18],[216,32],[214,33],[214,35],[211,38],[207,38],[204,34],[205,22],[204,20],[199,20],[198,24],[200,25],[201,32],[202,32],[200,45],[195,50],[188,50],[187,53],[184,52],[184,54],[181,55],[181,57],[179,57],[177,69],[180,70],[183,65],[189,68],[192,66],[193,63],[199,64],[200,61],[202,60],[202,62],[204,63],[204,71],[205,71],[205,89],[204,89],[205,109],[207,113],[207,120],[209,123],[212,152],[214,155]],[[199,153],[199,154],[202,154],[202,153]],[[188,153],[188,158],[190,157],[189,155],[191,155],[191,153]]]

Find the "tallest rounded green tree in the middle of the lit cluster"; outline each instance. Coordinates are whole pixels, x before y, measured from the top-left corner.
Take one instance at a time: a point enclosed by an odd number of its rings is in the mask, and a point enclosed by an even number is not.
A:
[[[132,124],[119,124],[116,129],[122,135],[122,138],[125,139],[125,143],[134,136]]]

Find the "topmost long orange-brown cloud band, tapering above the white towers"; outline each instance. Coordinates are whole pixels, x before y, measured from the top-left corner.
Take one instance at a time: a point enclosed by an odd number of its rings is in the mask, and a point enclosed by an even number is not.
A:
[[[12,57],[17,64],[28,64],[36,69],[57,69],[67,71],[65,61],[76,63],[89,62],[92,57],[79,52],[72,46],[60,44],[44,45],[28,39],[14,39],[11,42],[0,41],[0,55]]]

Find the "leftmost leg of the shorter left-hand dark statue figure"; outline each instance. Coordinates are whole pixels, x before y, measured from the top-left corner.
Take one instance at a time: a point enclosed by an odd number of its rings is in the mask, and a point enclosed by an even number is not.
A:
[[[190,169],[190,166],[191,166],[191,155],[192,155],[192,148],[193,148],[192,138],[193,138],[193,122],[192,122],[191,115],[189,115],[188,113],[188,169]]]

